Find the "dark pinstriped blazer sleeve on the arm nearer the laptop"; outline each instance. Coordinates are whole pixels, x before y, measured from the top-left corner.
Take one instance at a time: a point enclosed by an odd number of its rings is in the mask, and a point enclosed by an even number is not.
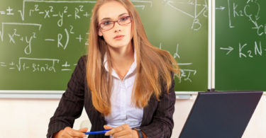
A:
[[[152,122],[150,125],[140,127],[140,130],[149,138],[170,138],[174,127],[173,113],[175,101],[174,77],[172,74],[172,84],[169,93],[162,91],[157,109],[153,114]]]

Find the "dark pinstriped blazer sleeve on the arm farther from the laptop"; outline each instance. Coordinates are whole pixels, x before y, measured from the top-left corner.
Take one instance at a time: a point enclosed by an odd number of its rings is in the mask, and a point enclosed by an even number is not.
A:
[[[64,130],[65,127],[73,127],[74,120],[82,114],[86,76],[84,58],[83,56],[79,59],[67,84],[67,90],[62,94],[55,114],[50,118],[47,137],[52,137],[52,134]]]

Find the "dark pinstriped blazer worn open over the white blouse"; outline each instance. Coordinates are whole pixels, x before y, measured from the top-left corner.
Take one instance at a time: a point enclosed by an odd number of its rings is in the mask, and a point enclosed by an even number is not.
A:
[[[87,112],[90,122],[92,122],[91,131],[104,130],[106,121],[104,116],[99,113],[92,105],[91,91],[86,81],[86,61],[87,56],[79,59],[77,67],[67,84],[67,91],[62,94],[60,103],[55,110],[55,114],[50,118],[47,137],[65,127],[73,127],[74,120],[82,114],[83,106]],[[173,78],[173,74],[172,74]],[[142,130],[149,138],[171,137],[174,122],[172,115],[174,113],[175,103],[174,79],[170,87],[170,94],[167,94],[163,88],[160,102],[155,96],[152,96],[148,105],[143,109],[143,120],[140,125]],[[106,137],[104,134],[92,134],[89,138]]]

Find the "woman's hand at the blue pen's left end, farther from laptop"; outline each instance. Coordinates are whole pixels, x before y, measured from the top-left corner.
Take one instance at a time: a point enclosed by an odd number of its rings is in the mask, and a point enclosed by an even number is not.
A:
[[[82,138],[86,137],[86,134],[83,132],[87,132],[88,128],[84,127],[80,130],[73,130],[71,127],[65,127],[64,130],[60,130],[59,132],[54,134],[54,138]]]

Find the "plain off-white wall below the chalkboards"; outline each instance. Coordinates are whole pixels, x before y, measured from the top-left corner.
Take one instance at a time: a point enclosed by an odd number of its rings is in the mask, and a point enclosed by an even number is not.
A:
[[[187,115],[196,96],[190,100],[177,100],[174,112],[174,130],[172,138],[179,136]],[[36,138],[45,137],[48,122],[55,112],[59,99],[5,99],[0,98],[0,138]],[[82,120],[87,120],[82,113],[74,123],[79,129]],[[266,96],[262,96],[255,113],[246,128],[243,138],[266,137]]]

